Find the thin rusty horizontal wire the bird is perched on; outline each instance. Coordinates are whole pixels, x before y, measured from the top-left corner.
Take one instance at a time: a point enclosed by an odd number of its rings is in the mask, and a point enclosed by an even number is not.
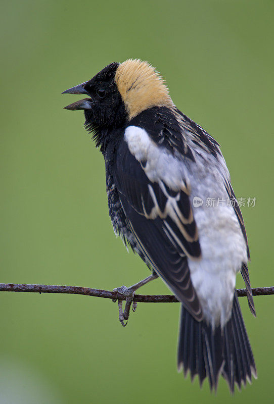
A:
[[[0,292],[32,292],[32,293],[69,293],[83,294],[85,296],[103,297],[106,299],[126,300],[126,297],[120,293],[110,290],[92,289],[89,287],[79,286],[58,286],[58,285],[27,285],[21,283],[0,283]],[[246,289],[237,289],[239,297],[246,296]],[[255,287],[252,289],[253,296],[265,296],[274,294],[274,286]],[[176,303],[178,300],[175,296],[169,294],[162,295],[143,295],[135,294],[133,301],[144,303]]]

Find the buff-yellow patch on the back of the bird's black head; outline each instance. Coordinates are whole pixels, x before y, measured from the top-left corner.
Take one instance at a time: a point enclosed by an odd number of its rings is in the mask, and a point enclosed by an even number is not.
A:
[[[115,81],[129,119],[154,106],[173,106],[163,79],[148,62],[126,60],[117,68]]]

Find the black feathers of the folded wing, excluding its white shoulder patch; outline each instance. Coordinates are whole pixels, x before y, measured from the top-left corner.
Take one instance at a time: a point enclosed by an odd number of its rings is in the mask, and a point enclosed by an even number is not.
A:
[[[152,182],[123,142],[113,179],[129,227],[152,268],[163,278],[196,320],[202,310],[192,285],[188,258],[201,249],[189,197],[161,179]]]

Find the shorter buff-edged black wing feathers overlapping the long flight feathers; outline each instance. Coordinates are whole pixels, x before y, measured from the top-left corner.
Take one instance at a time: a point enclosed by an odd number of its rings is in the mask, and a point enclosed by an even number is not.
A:
[[[114,167],[114,181],[129,205],[148,220],[162,219],[162,227],[180,252],[201,256],[198,230],[186,189],[171,190],[163,181],[151,182],[124,142]]]

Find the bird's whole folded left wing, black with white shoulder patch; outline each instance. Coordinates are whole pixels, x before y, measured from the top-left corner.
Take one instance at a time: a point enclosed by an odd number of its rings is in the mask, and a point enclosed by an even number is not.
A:
[[[188,258],[201,257],[182,162],[130,126],[117,150],[113,179],[132,233],[154,270],[198,321],[199,299]]]

